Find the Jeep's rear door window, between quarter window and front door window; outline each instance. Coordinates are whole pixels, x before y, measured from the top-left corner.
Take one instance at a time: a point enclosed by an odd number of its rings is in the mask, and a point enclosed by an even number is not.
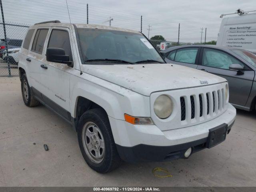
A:
[[[48,29],[38,29],[32,44],[33,51],[42,54]]]

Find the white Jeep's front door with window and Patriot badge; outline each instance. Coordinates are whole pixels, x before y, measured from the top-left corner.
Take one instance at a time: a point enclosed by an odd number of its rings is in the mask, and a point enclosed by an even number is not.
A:
[[[46,42],[46,48],[62,48],[65,50],[65,54],[70,56],[70,61],[72,61],[70,39],[69,28],[53,27]],[[44,84],[44,101],[50,108],[70,121],[70,72],[74,68],[69,67],[67,64],[48,62],[46,56],[43,62],[41,78]]]

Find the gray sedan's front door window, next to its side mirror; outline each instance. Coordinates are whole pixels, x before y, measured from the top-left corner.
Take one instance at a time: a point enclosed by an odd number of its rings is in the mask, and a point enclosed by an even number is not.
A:
[[[242,62],[222,51],[204,48],[202,66],[229,69],[230,64],[240,64],[244,67]]]

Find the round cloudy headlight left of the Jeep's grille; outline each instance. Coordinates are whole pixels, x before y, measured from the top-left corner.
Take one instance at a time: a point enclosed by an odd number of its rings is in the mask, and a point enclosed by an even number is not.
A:
[[[173,104],[170,97],[160,95],[154,102],[154,112],[161,119],[166,119],[172,114]]]

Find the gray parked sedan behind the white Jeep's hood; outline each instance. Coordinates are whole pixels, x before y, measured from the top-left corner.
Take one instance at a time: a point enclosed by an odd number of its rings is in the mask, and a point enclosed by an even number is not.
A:
[[[160,52],[167,63],[203,70],[226,78],[236,108],[256,109],[256,55],[238,48],[184,45]]]

